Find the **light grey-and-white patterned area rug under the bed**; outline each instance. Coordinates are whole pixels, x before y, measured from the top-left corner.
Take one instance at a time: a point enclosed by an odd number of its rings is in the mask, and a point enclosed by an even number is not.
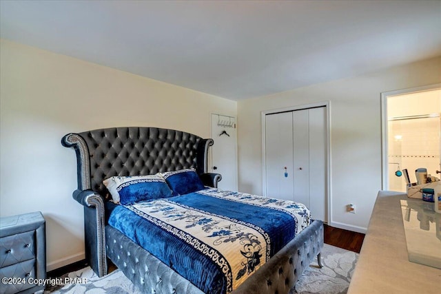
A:
[[[322,249],[322,264],[320,269],[316,260],[305,270],[298,280],[296,287],[291,289],[290,294],[343,294],[347,293],[351,281],[353,269],[358,260],[358,254],[345,249],[325,244]],[[65,279],[68,277],[68,279]],[[74,284],[64,286],[52,286],[44,293],[53,294],[101,294],[101,293],[127,293],[140,294],[132,282],[125,277],[123,272],[116,270],[102,277],[86,267],[79,271],[68,273],[61,277],[61,281],[72,280]],[[87,283],[83,283],[87,281]]]

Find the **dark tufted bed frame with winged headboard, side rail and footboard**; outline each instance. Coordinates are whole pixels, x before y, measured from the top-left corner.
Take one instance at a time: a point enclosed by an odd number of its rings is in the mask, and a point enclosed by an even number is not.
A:
[[[63,136],[77,159],[78,189],[73,198],[84,207],[85,255],[94,272],[107,274],[107,258],[145,293],[202,293],[170,267],[107,225],[111,199],[103,180],[194,168],[204,185],[217,187],[220,174],[207,173],[212,139],[156,127],[96,129]],[[323,246],[320,220],[300,232],[233,293],[289,293]]]

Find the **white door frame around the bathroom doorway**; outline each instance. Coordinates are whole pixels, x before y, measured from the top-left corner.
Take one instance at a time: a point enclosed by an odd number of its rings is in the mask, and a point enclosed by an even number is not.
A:
[[[389,144],[387,142],[387,136],[388,136],[387,98],[393,96],[400,96],[404,94],[412,94],[412,93],[426,92],[426,91],[440,90],[440,89],[441,89],[441,83],[438,83],[432,85],[424,85],[421,87],[412,87],[408,89],[401,89],[401,90],[381,93],[381,189],[382,190],[386,190],[387,187],[389,186],[389,180],[387,178],[387,175],[389,174],[389,165],[387,163],[389,162],[389,160],[387,159],[389,155],[387,151],[389,149]]]

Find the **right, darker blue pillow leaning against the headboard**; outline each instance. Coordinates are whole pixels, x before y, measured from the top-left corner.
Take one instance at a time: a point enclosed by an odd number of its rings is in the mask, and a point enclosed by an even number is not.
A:
[[[184,195],[205,189],[201,178],[195,169],[167,171],[162,174],[167,184],[172,188],[173,195]]]

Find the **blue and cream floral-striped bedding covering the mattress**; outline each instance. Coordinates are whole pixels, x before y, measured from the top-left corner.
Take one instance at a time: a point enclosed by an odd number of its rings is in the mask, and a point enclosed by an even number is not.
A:
[[[213,188],[118,205],[108,222],[205,293],[229,293],[311,216],[304,204]]]

